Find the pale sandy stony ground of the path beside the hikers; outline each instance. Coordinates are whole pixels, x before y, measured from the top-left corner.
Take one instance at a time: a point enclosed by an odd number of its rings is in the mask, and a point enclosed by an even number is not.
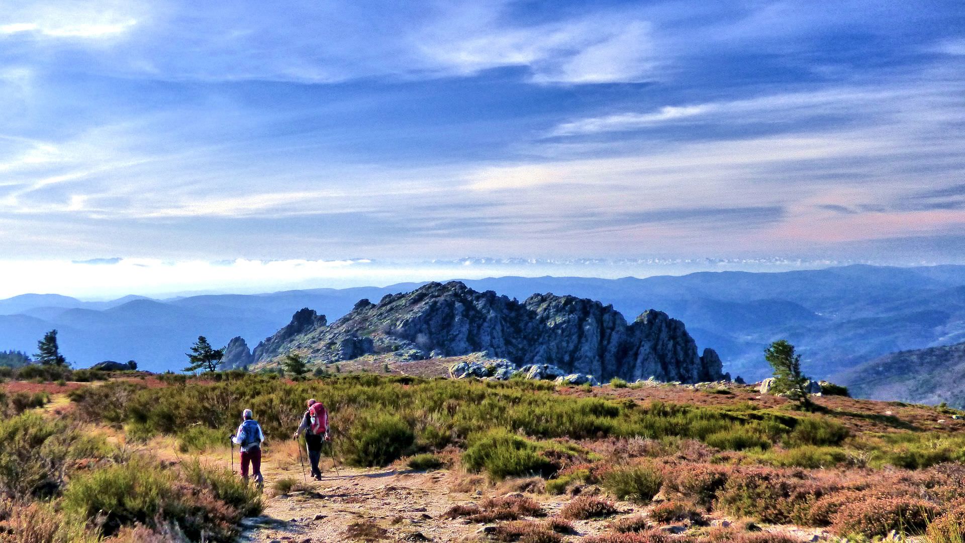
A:
[[[322,543],[342,541],[397,542],[483,542],[491,525],[464,519],[447,519],[445,512],[456,504],[518,494],[527,481],[490,485],[481,477],[458,471],[413,472],[409,470],[329,469],[321,481],[308,479],[307,490],[272,496],[272,466],[264,470],[269,490],[262,517],[247,519],[244,542]],[[568,496],[527,493],[538,500],[547,517],[555,516]],[[604,531],[620,516],[646,512],[647,507],[618,502],[620,515],[610,519],[575,521],[574,533],[566,541],[578,543],[584,537]],[[708,519],[709,524],[727,526],[731,519]],[[659,527],[660,525],[654,525]],[[667,530],[706,530],[686,524],[666,525]],[[836,538],[821,529],[763,527],[787,533],[801,541],[830,541]]]

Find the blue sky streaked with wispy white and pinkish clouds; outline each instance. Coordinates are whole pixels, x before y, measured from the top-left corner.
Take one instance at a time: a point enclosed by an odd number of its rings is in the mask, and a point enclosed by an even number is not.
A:
[[[963,172],[960,0],[0,9],[6,260],[960,261]]]

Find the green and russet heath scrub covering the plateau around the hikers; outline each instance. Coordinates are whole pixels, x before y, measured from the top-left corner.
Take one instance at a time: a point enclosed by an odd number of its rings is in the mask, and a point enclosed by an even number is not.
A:
[[[82,425],[120,432],[126,443],[162,438],[194,452],[233,430],[242,406],[259,414],[269,441],[290,440],[304,398],[314,397],[332,414],[339,443],[333,452],[344,464],[461,470],[493,484],[538,477],[545,482],[531,485],[539,489],[533,492],[572,496],[546,520],[533,520],[548,514],[538,500],[514,495],[448,513],[497,523],[498,540],[569,540],[575,536],[554,523],[586,519],[610,527],[594,535],[599,541],[781,540],[734,527],[652,530],[660,523],[702,527],[715,515],[826,529],[859,541],[892,531],[942,542],[960,537],[965,431],[924,423],[957,412],[842,396],[815,398],[813,410],[802,412],[796,402],[754,396],[747,387],[731,386],[729,394],[681,389],[587,392],[532,381],[375,373],[287,381],[228,372],[73,388],[71,409],[61,417],[34,413],[45,399],[11,407],[7,395],[12,415],[0,422],[6,499],[0,526],[60,527],[49,536],[14,539],[24,543],[126,541],[149,533],[231,541],[240,519],[261,510],[257,492],[197,461],[170,465],[132,454]],[[914,416],[892,414],[893,406]],[[869,413],[870,407],[884,413]],[[285,494],[295,483],[269,486]],[[620,517],[628,507],[647,513]]]

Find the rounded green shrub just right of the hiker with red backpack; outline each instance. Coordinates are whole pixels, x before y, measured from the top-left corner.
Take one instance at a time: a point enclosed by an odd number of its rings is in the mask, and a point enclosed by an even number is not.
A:
[[[415,433],[399,416],[373,414],[355,420],[343,443],[352,466],[382,467],[400,459],[415,443]]]

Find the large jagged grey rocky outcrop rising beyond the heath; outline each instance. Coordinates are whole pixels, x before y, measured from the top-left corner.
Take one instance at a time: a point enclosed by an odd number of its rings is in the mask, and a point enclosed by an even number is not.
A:
[[[602,381],[654,376],[697,383],[726,377],[720,357],[709,349],[699,355],[683,323],[661,311],[648,310],[627,324],[598,301],[542,294],[520,302],[455,281],[428,283],[378,303],[361,300],[331,325],[302,309],[253,356],[256,362],[273,360],[293,350],[311,362],[484,353],[517,367],[555,366],[549,379],[583,374]]]

